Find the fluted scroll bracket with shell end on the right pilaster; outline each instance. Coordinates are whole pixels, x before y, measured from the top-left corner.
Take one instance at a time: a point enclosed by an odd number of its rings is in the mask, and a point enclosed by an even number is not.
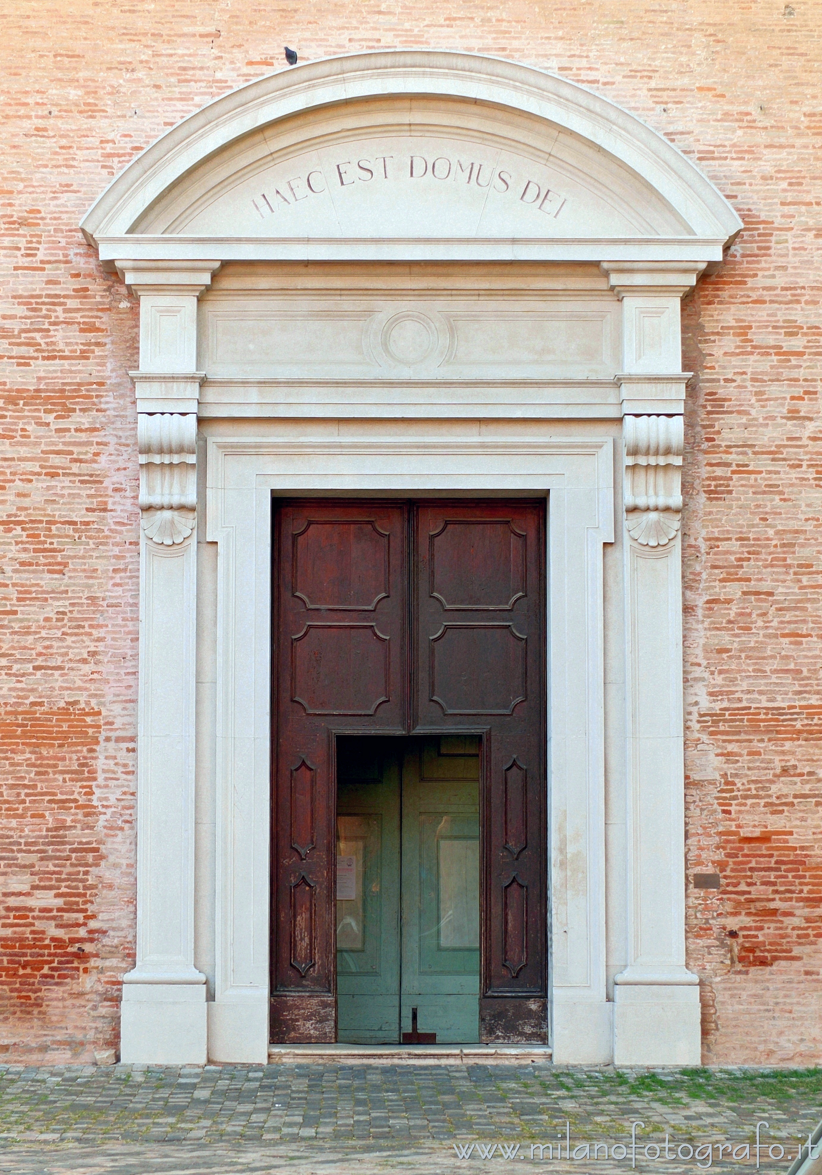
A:
[[[681,416],[626,416],[625,525],[641,546],[665,546],[682,512]]]

